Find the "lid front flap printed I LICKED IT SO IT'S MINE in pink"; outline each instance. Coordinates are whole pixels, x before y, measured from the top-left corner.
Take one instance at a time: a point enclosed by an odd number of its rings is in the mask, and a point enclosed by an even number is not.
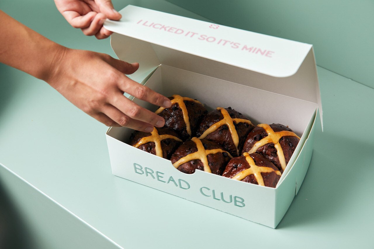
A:
[[[129,5],[122,19],[107,21],[115,33],[230,65],[287,77],[300,67],[312,45],[216,25]],[[139,50],[140,47],[132,49]]]

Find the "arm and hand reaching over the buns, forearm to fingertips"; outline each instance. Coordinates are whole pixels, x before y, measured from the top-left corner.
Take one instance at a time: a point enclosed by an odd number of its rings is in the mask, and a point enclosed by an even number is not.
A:
[[[165,120],[135,104],[123,93],[165,108],[171,101],[125,74],[138,63],[103,53],[68,49],[48,40],[0,10],[0,62],[15,67],[54,87],[71,103],[107,126],[126,126],[151,132]]]

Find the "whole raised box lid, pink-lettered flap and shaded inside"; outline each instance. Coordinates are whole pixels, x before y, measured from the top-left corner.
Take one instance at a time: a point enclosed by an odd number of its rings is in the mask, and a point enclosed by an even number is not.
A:
[[[119,59],[142,82],[160,64],[322,105],[310,44],[128,5],[107,20]]]

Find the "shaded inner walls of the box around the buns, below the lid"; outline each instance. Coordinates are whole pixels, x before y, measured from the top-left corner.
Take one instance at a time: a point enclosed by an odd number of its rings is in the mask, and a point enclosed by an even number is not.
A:
[[[214,110],[217,107],[227,108],[230,106],[247,116],[255,125],[259,123],[281,123],[288,125],[301,137],[301,141],[290,160],[289,167],[283,173],[282,179],[291,169],[292,162],[297,157],[297,151],[300,151],[306,137],[309,135],[305,131],[308,126],[310,129],[310,122],[314,120],[317,107],[317,104],[313,102],[216,79],[167,65],[160,65],[151,74],[145,85],[165,96],[179,94],[198,99],[205,105],[208,111]],[[158,108],[139,99],[134,99],[133,101],[151,111],[155,111]],[[111,127],[107,134],[128,143],[132,132],[132,129],[126,127]]]

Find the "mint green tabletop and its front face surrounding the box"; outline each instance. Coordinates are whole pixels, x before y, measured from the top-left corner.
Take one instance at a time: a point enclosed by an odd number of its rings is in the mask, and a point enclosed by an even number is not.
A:
[[[204,19],[163,0],[114,4]],[[108,39],[71,28],[52,1],[0,7],[60,44],[114,56]],[[103,124],[0,64],[0,248],[374,248],[374,89],[318,74],[324,132],[272,229],[113,176]]]

